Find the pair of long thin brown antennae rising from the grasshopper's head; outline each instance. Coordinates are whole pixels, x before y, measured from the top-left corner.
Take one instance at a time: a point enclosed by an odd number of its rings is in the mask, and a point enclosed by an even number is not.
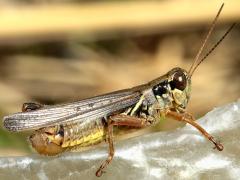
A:
[[[231,28],[227,31],[227,33],[225,33],[224,36],[217,42],[217,44],[215,44],[215,45],[213,46],[213,48],[207,53],[207,55],[204,56],[205,58],[202,58],[202,59],[199,61],[199,57],[200,57],[200,55],[202,54],[202,51],[203,51],[204,47],[206,46],[207,41],[209,40],[209,37],[210,37],[210,35],[212,34],[212,32],[213,32],[213,30],[214,30],[214,28],[215,28],[215,26],[216,26],[216,22],[217,22],[218,17],[219,17],[219,15],[220,15],[220,13],[221,13],[221,11],[222,11],[222,9],[223,9],[223,6],[224,6],[224,3],[221,5],[220,9],[218,10],[218,13],[217,13],[216,17],[214,18],[214,20],[213,20],[213,22],[212,22],[212,24],[211,24],[211,26],[210,26],[210,29],[209,29],[209,31],[208,31],[208,33],[207,33],[207,35],[206,35],[206,37],[205,37],[205,39],[204,39],[204,41],[203,41],[202,46],[201,46],[201,48],[199,49],[196,57],[194,58],[194,61],[193,61],[192,65],[191,65],[191,67],[190,67],[190,69],[189,69],[189,71],[188,71],[190,77],[192,76],[192,74],[193,74],[193,72],[195,71],[195,69],[199,66],[199,64],[200,64],[204,59],[206,59],[206,57],[220,44],[220,42],[226,37],[226,35],[227,35],[227,34],[230,32],[230,30],[233,28],[232,26],[235,25],[235,24],[232,25]],[[195,64],[196,64],[196,66],[194,66]]]

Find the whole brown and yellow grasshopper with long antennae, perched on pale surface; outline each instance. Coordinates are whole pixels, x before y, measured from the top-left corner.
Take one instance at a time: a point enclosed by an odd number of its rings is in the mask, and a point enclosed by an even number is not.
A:
[[[174,68],[144,85],[73,103],[52,106],[24,103],[22,112],[4,117],[4,127],[9,131],[34,130],[29,137],[30,143],[43,155],[56,155],[76,146],[87,147],[106,141],[109,146],[108,157],[96,171],[96,176],[101,176],[113,159],[114,126],[144,128],[158,123],[159,117],[172,117],[191,124],[213,143],[217,150],[222,151],[223,145],[186,112],[186,107],[190,99],[193,73],[235,25],[232,24],[207,54],[199,58],[223,5],[188,71]]]

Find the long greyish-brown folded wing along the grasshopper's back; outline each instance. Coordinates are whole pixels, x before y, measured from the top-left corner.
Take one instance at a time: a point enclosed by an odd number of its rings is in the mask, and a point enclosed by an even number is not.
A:
[[[74,103],[15,113],[4,117],[4,127],[9,131],[24,131],[94,120],[135,104],[140,96],[138,91],[125,90]]]

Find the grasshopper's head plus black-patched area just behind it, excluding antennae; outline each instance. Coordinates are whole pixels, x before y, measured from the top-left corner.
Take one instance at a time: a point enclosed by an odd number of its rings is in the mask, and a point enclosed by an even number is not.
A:
[[[174,68],[152,90],[161,106],[183,112],[190,98],[191,78],[184,69]]]

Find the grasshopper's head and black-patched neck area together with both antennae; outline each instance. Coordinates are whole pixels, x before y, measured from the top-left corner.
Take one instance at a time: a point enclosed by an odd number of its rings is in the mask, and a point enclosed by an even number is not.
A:
[[[150,85],[153,85],[153,94],[156,96],[160,107],[172,107],[179,112],[183,112],[186,108],[188,101],[190,99],[191,93],[191,77],[198,66],[218,47],[218,45],[223,41],[223,39],[228,35],[228,33],[233,29],[236,23],[233,23],[229,29],[223,34],[223,36],[217,41],[212,48],[202,57],[202,52],[204,47],[216,25],[217,19],[222,11],[223,5],[219,9],[215,19],[212,22],[212,25],[207,33],[204,42],[199,49],[189,71],[185,71],[181,68],[174,68],[169,71],[163,77],[160,77],[153,82],[150,82]]]

